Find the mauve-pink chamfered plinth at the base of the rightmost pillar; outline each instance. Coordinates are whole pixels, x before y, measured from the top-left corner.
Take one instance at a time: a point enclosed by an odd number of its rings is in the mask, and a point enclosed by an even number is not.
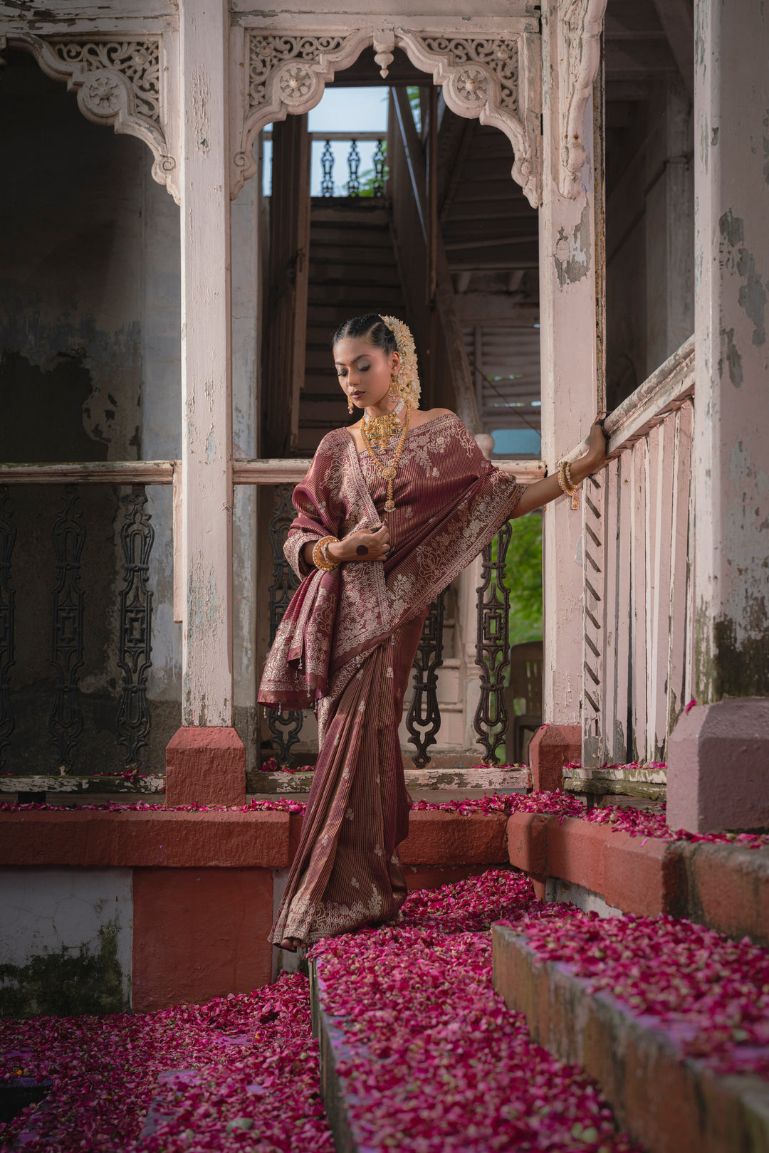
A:
[[[699,704],[668,744],[668,824],[689,832],[769,826],[769,700]]]

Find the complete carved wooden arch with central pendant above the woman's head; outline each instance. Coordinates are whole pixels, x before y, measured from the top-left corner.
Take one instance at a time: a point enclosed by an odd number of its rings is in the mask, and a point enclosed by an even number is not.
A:
[[[443,85],[457,115],[499,128],[513,145],[513,179],[533,205],[541,203],[540,37],[533,31],[505,38],[415,32],[402,28],[357,29],[348,33],[276,32],[249,29],[248,86],[240,151],[235,153],[232,195],[257,171],[254,142],[265,125],[314,108],[337,71],[349,68],[374,46],[383,77],[402,48],[417,68]]]

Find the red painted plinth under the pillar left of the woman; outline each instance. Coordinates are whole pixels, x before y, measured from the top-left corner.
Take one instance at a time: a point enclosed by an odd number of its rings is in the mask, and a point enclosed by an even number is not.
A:
[[[234,729],[179,729],[166,747],[166,806],[244,805],[246,747]]]

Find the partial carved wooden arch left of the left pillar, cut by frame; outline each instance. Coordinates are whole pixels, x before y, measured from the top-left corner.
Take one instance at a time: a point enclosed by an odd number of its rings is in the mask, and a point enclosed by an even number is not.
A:
[[[0,51],[6,45],[31,53],[46,76],[63,81],[69,92],[76,92],[86,120],[112,125],[116,133],[144,141],[152,152],[153,179],[165,184],[179,204],[176,161],[166,140],[161,37],[85,40],[13,32],[0,38]]]

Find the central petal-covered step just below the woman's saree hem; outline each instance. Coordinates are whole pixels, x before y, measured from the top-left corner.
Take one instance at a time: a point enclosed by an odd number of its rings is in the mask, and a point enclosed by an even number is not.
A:
[[[493,992],[489,922],[558,912],[520,874],[492,869],[413,894],[397,925],[315,948],[314,1025],[337,1153],[639,1148],[595,1083],[534,1045]]]

